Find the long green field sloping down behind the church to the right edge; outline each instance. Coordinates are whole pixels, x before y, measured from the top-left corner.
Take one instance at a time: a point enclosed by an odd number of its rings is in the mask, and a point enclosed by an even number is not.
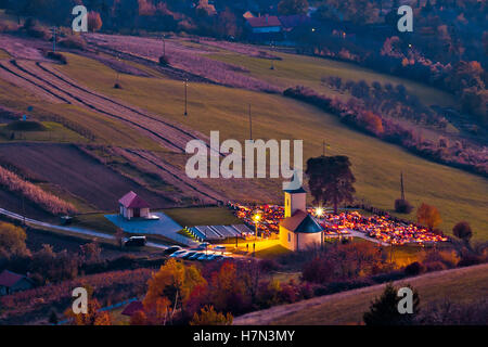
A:
[[[329,154],[348,155],[357,178],[358,198],[390,210],[399,197],[399,175],[403,171],[407,198],[414,206],[423,202],[437,206],[445,231],[450,232],[455,222],[465,219],[471,222],[476,240],[488,236],[485,178],[412,155],[399,146],[348,129],[336,117],[313,106],[281,95],[190,83],[189,116],[183,117],[181,81],[124,75],[124,89],[115,90],[112,69],[93,60],[66,55],[69,64],[60,69],[81,83],[206,134],[219,130],[221,139],[247,138],[247,104],[252,103],[256,138],[304,139],[305,160],[322,153],[323,140],[331,144]],[[269,189],[281,196],[278,184]],[[414,213],[409,217],[413,219]]]

